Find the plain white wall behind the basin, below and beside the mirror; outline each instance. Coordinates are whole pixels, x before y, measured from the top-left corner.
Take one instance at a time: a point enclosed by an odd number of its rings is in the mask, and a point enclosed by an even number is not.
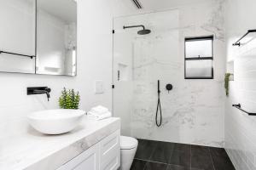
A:
[[[117,0],[78,0],[77,77],[0,74],[1,143],[11,143],[16,135],[27,132],[26,114],[29,112],[58,108],[57,100],[63,87],[79,90],[80,108],[85,111],[99,104],[111,108],[112,19],[113,14],[125,11],[129,9]],[[95,80],[104,82],[104,94],[94,94]],[[50,101],[47,102],[44,94],[27,96],[26,87],[33,86],[52,88]]]

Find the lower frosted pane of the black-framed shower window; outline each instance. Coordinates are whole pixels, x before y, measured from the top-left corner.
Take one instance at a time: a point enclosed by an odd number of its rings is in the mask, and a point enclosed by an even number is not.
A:
[[[212,60],[187,60],[186,77],[212,77]]]

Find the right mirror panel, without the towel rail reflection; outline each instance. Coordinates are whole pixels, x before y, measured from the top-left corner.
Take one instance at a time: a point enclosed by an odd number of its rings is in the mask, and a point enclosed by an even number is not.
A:
[[[38,0],[37,9],[37,74],[76,76],[76,2]]]

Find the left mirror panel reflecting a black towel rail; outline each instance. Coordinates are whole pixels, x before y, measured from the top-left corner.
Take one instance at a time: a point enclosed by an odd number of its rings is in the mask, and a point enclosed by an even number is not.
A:
[[[35,1],[0,0],[0,71],[35,73]]]

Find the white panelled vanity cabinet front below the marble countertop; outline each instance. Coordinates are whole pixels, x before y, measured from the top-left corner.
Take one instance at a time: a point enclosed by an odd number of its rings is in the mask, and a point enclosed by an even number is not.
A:
[[[110,134],[57,170],[116,170],[120,166],[120,131]]]

